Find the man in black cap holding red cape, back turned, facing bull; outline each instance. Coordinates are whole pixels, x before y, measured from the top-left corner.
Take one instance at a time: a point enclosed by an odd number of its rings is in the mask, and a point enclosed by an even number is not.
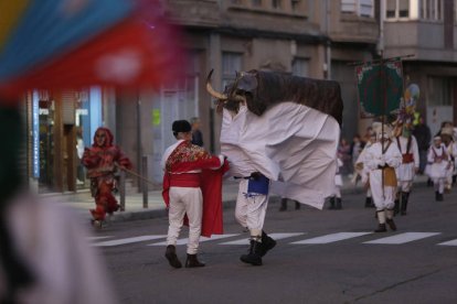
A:
[[[223,155],[211,155],[192,144],[191,129],[187,120],[174,121],[172,131],[177,142],[162,156],[162,195],[169,217],[166,258],[173,268],[182,267],[176,245],[185,216],[187,268],[204,267],[196,259],[200,236],[222,234],[222,175],[227,163]]]

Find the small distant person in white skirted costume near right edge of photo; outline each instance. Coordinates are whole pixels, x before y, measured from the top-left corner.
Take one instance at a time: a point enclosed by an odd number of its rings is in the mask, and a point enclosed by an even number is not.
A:
[[[433,145],[428,149],[427,161],[429,165],[428,175],[435,188],[435,200],[442,202],[444,199],[445,182],[451,163],[449,153],[443,144],[440,137],[433,139]]]

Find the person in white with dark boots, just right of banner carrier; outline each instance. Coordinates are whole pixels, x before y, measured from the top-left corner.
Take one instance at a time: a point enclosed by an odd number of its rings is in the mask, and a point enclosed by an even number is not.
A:
[[[398,182],[397,199],[395,199],[394,214],[406,215],[407,203],[414,177],[419,169],[419,154],[416,138],[406,126],[402,134],[395,138],[395,143],[402,153],[402,163],[395,170]]]

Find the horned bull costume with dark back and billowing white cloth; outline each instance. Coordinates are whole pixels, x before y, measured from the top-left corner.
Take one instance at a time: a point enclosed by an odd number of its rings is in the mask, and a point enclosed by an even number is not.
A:
[[[253,167],[272,181],[272,192],[321,208],[334,188],[342,122],[340,85],[284,73],[236,73],[219,93],[206,90],[222,112],[221,152],[230,174]],[[276,187],[280,185],[279,187]]]

